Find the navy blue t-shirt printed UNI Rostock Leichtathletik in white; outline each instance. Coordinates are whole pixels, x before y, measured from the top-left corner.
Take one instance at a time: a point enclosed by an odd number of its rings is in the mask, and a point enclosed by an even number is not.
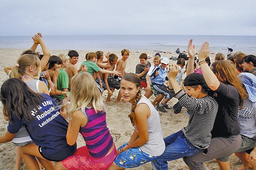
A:
[[[59,161],[66,159],[76,151],[76,144],[70,146],[67,143],[68,122],[60,115],[60,108],[49,95],[39,95],[42,96],[43,102],[38,109],[43,114],[39,115],[35,110],[31,110],[36,119],[27,122],[25,119],[21,121],[12,113],[14,124],[9,122],[7,130],[10,133],[17,133],[25,125],[33,142],[42,147],[42,153],[46,158]]]

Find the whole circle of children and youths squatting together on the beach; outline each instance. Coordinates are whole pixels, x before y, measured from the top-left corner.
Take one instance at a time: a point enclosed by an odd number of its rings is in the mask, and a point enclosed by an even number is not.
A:
[[[211,65],[208,42],[198,52],[196,64],[196,48],[190,40],[187,76],[182,81],[184,59],[170,65],[168,58],[156,53],[151,65],[142,53],[134,74],[125,71],[129,50],[121,51],[120,60],[107,53],[106,61],[97,51],[86,54],[77,69],[75,50],[50,56],[42,35],[32,38],[30,50],[14,66],[4,68],[10,79],[0,91],[4,118],[9,121],[0,143],[17,145],[15,168],[22,157],[29,169],[40,169],[42,164],[46,170],[54,169],[52,161],[55,169],[124,169],[152,161],[153,169],[163,170],[168,169],[167,161],[179,158],[190,169],[206,169],[203,162],[212,159],[217,159],[220,169],[230,169],[227,157],[235,152],[244,164],[241,169],[256,168],[256,77],[250,73],[254,55],[244,56],[245,69],[238,74],[219,53]],[[38,44],[43,55],[35,52]],[[117,103],[121,98],[131,103],[128,117],[134,127],[130,140],[118,149],[101,97],[107,90],[106,102],[111,101],[115,89],[120,89]],[[156,98],[151,103],[152,94]],[[179,100],[174,113],[188,109],[188,125],[163,138],[157,110],[171,109],[167,102],[172,97]],[[86,145],[76,149],[78,133]]]

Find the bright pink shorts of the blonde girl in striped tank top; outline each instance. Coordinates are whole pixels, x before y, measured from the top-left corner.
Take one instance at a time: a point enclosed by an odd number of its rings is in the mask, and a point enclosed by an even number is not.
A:
[[[76,149],[76,152],[74,152],[72,156],[69,156],[67,159],[62,160],[61,163],[67,169],[72,170],[104,170],[107,169],[113,163],[115,157],[116,147],[114,147],[113,151],[110,152],[107,156],[100,159],[96,159],[90,155],[87,146],[85,145],[83,147]]]

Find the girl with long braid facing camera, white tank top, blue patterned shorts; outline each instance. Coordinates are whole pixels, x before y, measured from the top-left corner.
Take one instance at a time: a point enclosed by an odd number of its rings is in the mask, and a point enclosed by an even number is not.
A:
[[[131,103],[128,117],[134,132],[131,139],[116,150],[118,155],[108,168],[111,170],[140,166],[159,157],[165,149],[159,113],[141,94],[140,78],[134,73],[125,74],[120,93],[124,101]]]

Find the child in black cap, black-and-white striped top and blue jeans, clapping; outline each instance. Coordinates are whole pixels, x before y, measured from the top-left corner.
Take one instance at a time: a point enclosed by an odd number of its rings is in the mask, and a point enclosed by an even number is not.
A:
[[[167,73],[169,89],[174,90],[181,106],[188,109],[188,125],[164,138],[165,151],[152,161],[153,169],[168,169],[167,161],[192,156],[201,150],[207,152],[211,143],[211,130],[218,111],[218,104],[207,94],[208,86],[201,74],[189,74],[184,80],[186,93],[176,81],[177,65]]]

